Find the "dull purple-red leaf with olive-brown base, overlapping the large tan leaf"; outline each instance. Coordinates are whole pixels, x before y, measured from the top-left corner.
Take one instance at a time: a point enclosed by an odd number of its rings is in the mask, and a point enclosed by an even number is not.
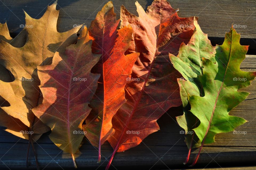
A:
[[[76,44],[54,54],[51,65],[38,66],[43,102],[32,111],[51,128],[51,141],[72,155],[74,165],[74,153],[84,137],[82,123],[91,111],[88,104],[100,76],[90,71],[99,58],[91,53],[84,28]]]

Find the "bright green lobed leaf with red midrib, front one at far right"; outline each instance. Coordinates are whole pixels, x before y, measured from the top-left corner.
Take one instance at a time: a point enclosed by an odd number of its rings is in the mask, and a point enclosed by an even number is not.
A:
[[[197,158],[191,166],[197,162],[203,145],[215,142],[216,134],[233,131],[246,122],[241,117],[229,115],[249,95],[237,90],[249,86],[256,76],[256,72],[240,70],[249,46],[242,46],[239,41],[240,34],[232,27],[226,33],[224,43],[216,46],[216,62],[202,58],[203,74],[199,80],[205,95],[188,94],[190,112],[200,121],[200,125],[193,130],[201,142]]]

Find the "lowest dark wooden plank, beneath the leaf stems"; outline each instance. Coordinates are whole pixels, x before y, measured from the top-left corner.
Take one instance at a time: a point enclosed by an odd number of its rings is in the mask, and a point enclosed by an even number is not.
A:
[[[1,158],[0,167],[26,168],[26,148],[27,144],[24,143],[1,144],[0,155],[4,156]],[[47,169],[73,167],[71,156],[60,151],[57,146],[53,144],[35,144],[35,148],[41,169],[45,167]],[[103,169],[107,164],[106,158],[113,152],[113,149],[107,143],[104,144],[102,147],[102,162],[98,164],[98,151],[93,146],[82,145],[79,150],[80,152],[75,154],[76,163],[79,168],[86,169],[96,169],[98,167]],[[195,158],[197,152],[198,150],[192,152],[191,160]],[[185,146],[149,146],[142,143],[136,148],[117,153],[113,160],[113,166],[122,170],[135,167],[138,169],[150,169],[151,167],[151,169],[187,168],[186,165],[183,165],[186,155],[187,148]],[[244,161],[244,164],[252,165],[255,157],[256,149],[252,147],[204,147],[197,168],[238,166],[238,162],[241,161]],[[35,168],[32,153],[29,161],[30,168]],[[115,169],[113,166],[111,169]]]

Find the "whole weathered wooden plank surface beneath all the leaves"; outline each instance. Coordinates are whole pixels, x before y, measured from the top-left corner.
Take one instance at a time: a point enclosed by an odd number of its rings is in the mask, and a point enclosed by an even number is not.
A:
[[[73,27],[73,24],[90,25],[97,12],[107,1],[88,0],[59,0],[58,8],[60,18],[58,20],[58,30],[66,31]],[[125,7],[134,14],[134,1],[113,0],[115,12],[119,18],[119,6]],[[142,6],[150,5],[151,1],[141,1]],[[34,18],[40,18],[46,10],[48,3],[53,1],[27,1],[27,0],[1,0],[0,1],[0,22],[7,20],[10,32],[16,35],[24,24],[24,9]],[[241,44],[250,44],[249,54],[256,54],[256,1],[178,1],[171,2],[173,8],[179,8],[179,15],[199,16],[199,24],[203,31],[211,36],[213,45],[223,42],[225,32],[229,30],[232,23],[247,25],[246,28],[238,28],[243,39]],[[9,10],[9,9],[11,10]],[[241,10],[243,9],[243,10]],[[250,10],[251,9],[251,10]],[[246,11],[244,11],[246,10]],[[16,15],[16,16],[15,16]],[[256,71],[256,57],[247,55],[241,64],[241,69],[245,71]],[[245,101],[234,108],[230,115],[240,116],[248,122],[236,131],[243,131],[246,134],[234,134],[233,132],[218,134],[216,143],[203,147],[201,157],[197,167],[233,167],[233,166],[253,166],[256,165],[256,81],[252,86],[245,88],[251,94]],[[113,160],[111,169],[186,169],[183,165],[187,156],[187,147],[184,142],[182,130],[175,121],[175,116],[182,114],[182,108],[172,108],[164,114],[157,122],[161,128],[156,133],[147,137],[141,145],[131,148],[125,152],[117,153]],[[0,127],[0,169],[26,169],[27,141],[11,135]],[[38,159],[41,169],[73,169],[73,162],[69,154],[63,153],[44,134],[35,144],[38,152]],[[79,151],[75,154],[76,162],[81,169],[104,169],[107,160],[113,149],[109,143],[102,146],[102,162],[97,163],[97,148],[94,148],[84,139]],[[191,161],[195,158],[197,150],[191,153]],[[30,152],[30,169],[35,168],[32,152]],[[222,168],[219,168],[222,169]],[[225,168],[224,168],[225,169]],[[232,168],[227,168],[232,169]],[[235,168],[234,168],[235,169]],[[241,169],[241,168],[240,168]],[[245,170],[256,169],[255,167],[242,168]],[[226,169],[225,169],[226,170]]]

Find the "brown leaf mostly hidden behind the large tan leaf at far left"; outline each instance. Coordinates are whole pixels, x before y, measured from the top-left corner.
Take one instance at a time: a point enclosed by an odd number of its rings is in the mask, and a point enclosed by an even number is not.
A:
[[[0,24],[0,39],[8,42],[10,45],[20,48],[26,43],[26,30],[23,29],[15,38],[10,37],[9,30],[7,28],[7,24]],[[9,70],[5,68],[5,63],[2,59],[0,59],[0,80],[3,82],[13,82],[14,77]],[[3,99],[0,96],[1,107],[9,107],[10,103]],[[6,104],[7,103],[7,104]],[[49,127],[44,125],[41,121],[37,122],[37,125],[32,129],[29,129],[21,120],[18,118],[12,117],[8,115],[2,108],[0,108],[0,125],[6,127],[5,131],[14,134],[23,139],[29,140],[30,136],[34,141],[37,141],[41,135],[47,131],[49,131]],[[31,117],[32,118],[32,117]],[[34,117],[35,119],[35,117]],[[35,120],[33,120],[35,121]],[[33,134],[29,131],[33,131]]]

